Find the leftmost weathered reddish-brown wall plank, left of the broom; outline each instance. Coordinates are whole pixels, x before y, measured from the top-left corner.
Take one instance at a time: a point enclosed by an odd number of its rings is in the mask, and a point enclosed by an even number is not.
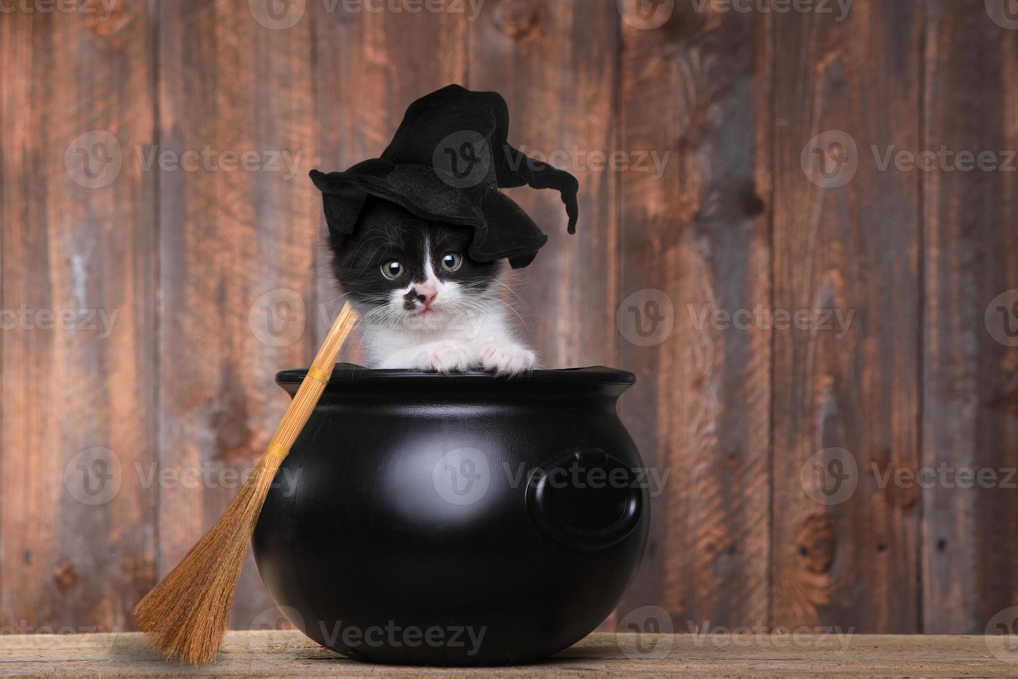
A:
[[[0,627],[122,629],[153,584],[146,3],[0,18]]]

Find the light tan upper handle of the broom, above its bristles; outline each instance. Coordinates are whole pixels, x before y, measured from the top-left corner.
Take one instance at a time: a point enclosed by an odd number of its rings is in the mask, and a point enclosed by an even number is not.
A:
[[[343,304],[339,316],[336,317],[332,328],[329,329],[329,334],[325,336],[325,341],[322,342],[322,348],[315,356],[315,361],[307,370],[306,377],[300,383],[300,388],[297,389],[297,393],[290,401],[290,406],[286,409],[286,414],[283,415],[283,421],[276,428],[276,433],[269,443],[265,461],[274,469],[279,468],[283,458],[289,454],[290,446],[293,445],[300,430],[304,428],[304,423],[310,417],[312,411],[315,410],[322,392],[325,391],[325,386],[329,384],[329,377],[332,375],[332,369],[336,365],[339,349],[343,346],[346,336],[353,330],[353,324],[356,321],[357,314],[350,307],[350,303]]]

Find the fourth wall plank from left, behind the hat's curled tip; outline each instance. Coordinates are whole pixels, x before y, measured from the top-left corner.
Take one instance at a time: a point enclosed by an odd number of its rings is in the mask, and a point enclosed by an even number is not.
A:
[[[510,144],[580,183],[575,236],[556,191],[505,191],[548,234],[506,281],[506,301],[548,367],[617,363],[619,171],[607,159],[618,138],[619,22],[609,3],[517,0],[470,23],[470,88],[506,98]]]

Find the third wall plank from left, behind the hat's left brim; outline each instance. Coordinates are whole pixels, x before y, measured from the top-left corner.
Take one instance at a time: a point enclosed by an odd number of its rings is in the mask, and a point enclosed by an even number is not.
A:
[[[308,3],[315,31],[321,169],[326,172],[378,158],[413,100],[452,82],[466,82],[471,3],[425,3],[416,12],[392,11],[402,6],[399,3],[375,3],[372,6],[381,11],[367,11],[367,4]],[[316,203],[321,217],[318,195]],[[324,219],[316,233],[315,327],[317,336],[324,337],[341,302],[329,266]],[[362,360],[362,347],[349,344],[341,360]]]

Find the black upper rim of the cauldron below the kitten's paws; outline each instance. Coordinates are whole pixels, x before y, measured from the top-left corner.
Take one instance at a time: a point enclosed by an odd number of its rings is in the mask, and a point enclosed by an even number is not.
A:
[[[306,367],[283,370],[276,374],[276,384],[284,389],[288,386],[296,386],[303,381],[306,374]],[[535,370],[523,375],[497,376],[493,373],[480,371],[445,375],[415,370],[371,369],[356,363],[336,363],[326,391],[335,391],[358,385],[367,386],[391,384],[394,382],[398,382],[402,387],[408,388],[410,384],[407,384],[407,381],[412,381],[413,387],[422,388],[435,386],[465,388],[502,384],[503,388],[509,386],[522,388],[541,387],[542,389],[555,386],[618,386],[626,389],[636,383],[636,376],[628,371],[607,367],[605,365]]]

